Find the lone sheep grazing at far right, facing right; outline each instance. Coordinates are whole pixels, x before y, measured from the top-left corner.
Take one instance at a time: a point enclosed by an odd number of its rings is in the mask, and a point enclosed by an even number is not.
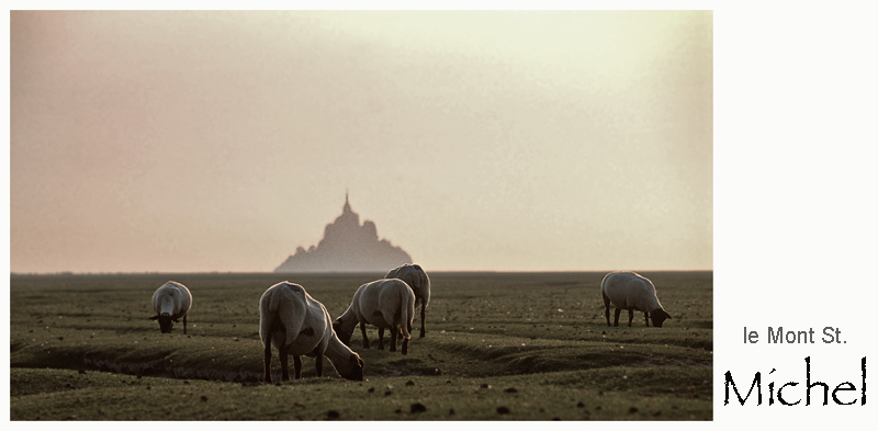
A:
[[[619,314],[622,309],[628,309],[629,327],[634,319],[634,310],[644,313],[648,327],[650,319],[652,319],[653,326],[661,328],[662,322],[671,318],[671,315],[658,303],[652,282],[635,272],[610,272],[600,282],[600,293],[604,296],[607,326],[610,326],[610,303],[616,306],[614,326],[619,326]]]

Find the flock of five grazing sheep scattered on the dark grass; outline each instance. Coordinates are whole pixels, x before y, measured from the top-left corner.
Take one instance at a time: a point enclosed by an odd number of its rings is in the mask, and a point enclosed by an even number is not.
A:
[[[600,282],[607,326],[610,326],[610,304],[616,306],[615,326],[619,315],[628,310],[628,326],[634,310],[643,311],[646,326],[661,328],[671,315],[662,308],[652,282],[634,272],[610,272]],[[289,356],[293,356],[295,378],[302,377],[302,355],[316,361],[317,376],[323,376],[323,356],[345,378],[361,381],[365,363],[350,349],[350,338],[357,325],[363,334],[363,348],[369,349],[365,325],[379,328],[379,350],[384,349],[384,330],[391,334],[390,351],[395,352],[399,339],[402,353],[408,353],[412,321],[420,305],[420,337],[427,333],[426,308],[430,300],[430,279],[417,264],[399,265],[376,280],[361,285],[353,293],[348,309],[335,321],[323,304],[311,297],[299,284],[281,282],[269,287],[259,299],[259,337],[264,345],[264,377],[271,379],[271,344],[281,361],[281,381],[290,379]],[[192,307],[192,294],[180,283],[168,282],[153,294],[153,308],[162,333],[171,331],[175,322],[183,320]]]

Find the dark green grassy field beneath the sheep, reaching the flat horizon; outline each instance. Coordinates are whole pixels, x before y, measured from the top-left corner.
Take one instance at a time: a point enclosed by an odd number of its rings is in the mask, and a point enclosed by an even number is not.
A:
[[[258,302],[302,284],[333,317],[381,274],[12,275],[12,420],[711,420],[711,272],[644,272],[673,319],[608,328],[604,273],[431,273],[427,337],[261,385]],[[159,333],[153,292],[192,292],[189,333]],[[374,328],[370,339],[378,337]],[[389,337],[385,337],[387,340]],[[273,372],[280,376],[274,352]],[[291,366],[292,366],[292,361]],[[328,372],[327,372],[328,371]]]

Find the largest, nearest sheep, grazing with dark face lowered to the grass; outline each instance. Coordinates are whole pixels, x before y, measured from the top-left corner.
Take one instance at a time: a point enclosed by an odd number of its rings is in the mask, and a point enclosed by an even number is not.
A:
[[[323,356],[339,375],[362,381],[365,363],[339,341],[329,313],[299,284],[281,282],[269,287],[259,299],[259,337],[264,345],[264,383],[271,382],[271,344],[281,359],[281,382],[290,379],[288,356],[293,356],[295,378],[302,378],[302,359],[314,356],[317,377],[323,376]]]

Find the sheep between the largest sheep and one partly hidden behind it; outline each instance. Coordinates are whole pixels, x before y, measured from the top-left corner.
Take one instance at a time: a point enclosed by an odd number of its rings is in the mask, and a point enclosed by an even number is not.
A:
[[[415,317],[415,293],[399,279],[382,279],[361,285],[353,293],[348,309],[333,322],[333,329],[346,345],[350,345],[353,328],[360,324],[363,348],[369,349],[365,324],[376,326],[378,349],[384,350],[384,329],[391,330],[391,352],[396,351],[398,337],[403,337],[403,354],[408,354],[412,338],[412,319]]]

